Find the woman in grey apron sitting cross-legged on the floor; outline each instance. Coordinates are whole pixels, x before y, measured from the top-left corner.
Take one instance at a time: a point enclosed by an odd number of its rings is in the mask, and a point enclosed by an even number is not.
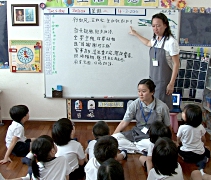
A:
[[[117,139],[120,150],[126,149],[128,153],[147,152],[150,143],[148,134],[150,124],[161,121],[166,126],[170,126],[169,108],[154,97],[155,87],[150,79],[143,79],[138,83],[139,98],[129,105],[123,120],[112,135]],[[134,119],[136,126],[132,130],[122,132]]]

